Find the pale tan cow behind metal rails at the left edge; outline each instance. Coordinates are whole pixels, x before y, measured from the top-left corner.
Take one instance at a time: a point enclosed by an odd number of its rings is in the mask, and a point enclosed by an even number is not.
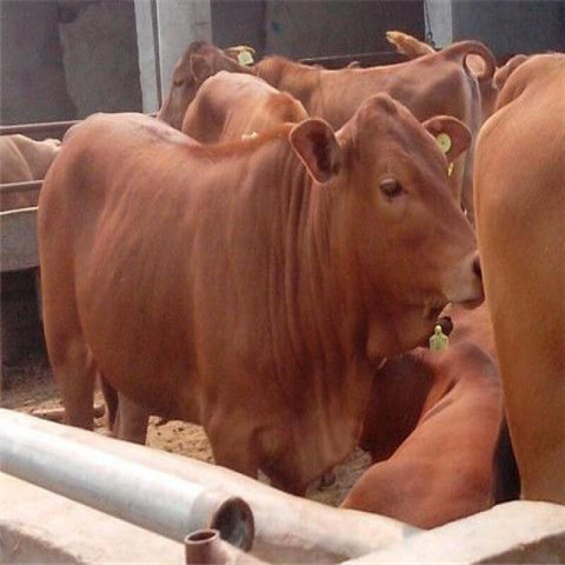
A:
[[[0,183],[42,180],[60,146],[58,139],[35,141],[20,134],[0,136]],[[37,204],[36,194],[6,194],[1,198],[2,210]]]

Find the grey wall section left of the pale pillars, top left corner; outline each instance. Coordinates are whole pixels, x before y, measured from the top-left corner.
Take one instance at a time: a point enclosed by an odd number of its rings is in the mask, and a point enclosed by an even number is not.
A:
[[[141,110],[132,0],[1,0],[2,124]]]

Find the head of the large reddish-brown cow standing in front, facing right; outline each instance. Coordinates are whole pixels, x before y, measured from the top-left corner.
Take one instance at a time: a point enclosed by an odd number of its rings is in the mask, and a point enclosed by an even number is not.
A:
[[[369,357],[415,347],[446,303],[482,299],[475,237],[448,184],[448,162],[470,144],[460,121],[420,124],[376,95],[338,133],[311,119],[290,141],[321,197],[331,199],[324,223],[334,271],[352,293],[345,301],[368,319]]]

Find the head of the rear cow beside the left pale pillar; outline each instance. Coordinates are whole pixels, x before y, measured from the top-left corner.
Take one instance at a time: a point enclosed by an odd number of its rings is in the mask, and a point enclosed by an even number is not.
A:
[[[194,100],[198,88],[206,78],[218,71],[253,74],[246,66],[240,65],[213,44],[197,41],[177,61],[172,75],[172,84],[157,119],[181,129],[184,112]]]

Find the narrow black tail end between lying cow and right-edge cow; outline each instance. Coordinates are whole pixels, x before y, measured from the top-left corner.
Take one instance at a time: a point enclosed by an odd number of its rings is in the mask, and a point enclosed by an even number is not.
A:
[[[520,498],[521,481],[506,416],[503,416],[492,458],[492,504]]]

